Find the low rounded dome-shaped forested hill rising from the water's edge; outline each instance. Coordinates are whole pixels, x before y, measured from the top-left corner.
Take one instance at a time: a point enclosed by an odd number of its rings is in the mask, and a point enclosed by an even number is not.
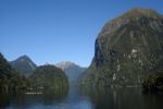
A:
[[[38,66],[29,76],[32,87],[43,89],[62,89],[68,87],[65,73],[54,65]]]

